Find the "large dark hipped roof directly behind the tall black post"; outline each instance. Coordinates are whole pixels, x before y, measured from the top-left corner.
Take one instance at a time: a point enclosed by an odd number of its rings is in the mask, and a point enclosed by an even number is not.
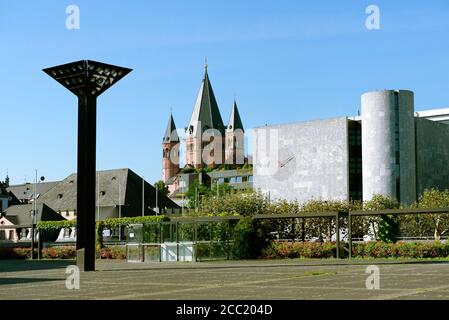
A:
[[[97,171],[97,192],[95,203],[100,207],[134,206],[141,207],[142,178],[131,169]],[[55,211],[76,210],[77,174],[71,174],[46,194],[39,202],[46,203]],[[120,195],[119,195],[120,191]],[[154,208],[156,189],[145,181],[145,205]],[[159,206],[176,208],[178,205],[159,193]],[[136,212],[137,213],[137,212]]]

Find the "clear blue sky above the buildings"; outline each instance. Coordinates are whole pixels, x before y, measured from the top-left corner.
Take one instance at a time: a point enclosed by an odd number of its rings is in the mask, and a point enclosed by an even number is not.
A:
[[[38,4],[37,4],[38,3]],[[65,27],[68,5],[80,29]],[[365,28],[380,8],[381,29]],[[449,106],[449,2],[0,0],[0,179],[76,171],[76,97],[41,69],[92,59],[134,69],[98,101],[97,168],[161,176],[170,108],[187,125],[203,76],[246,128],[351,116],[375,89]]]

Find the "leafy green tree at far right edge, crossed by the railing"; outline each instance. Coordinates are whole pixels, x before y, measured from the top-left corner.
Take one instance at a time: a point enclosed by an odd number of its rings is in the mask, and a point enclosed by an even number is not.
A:
[[[440,191],[432,188],[425,190],[418,200],[419,208],[446,208],[449,207],[449,190]],[[434,238],[439,241],[442,235],[449,232],[448,214],[426,214],[424,220],[431,222],[434,228]]]

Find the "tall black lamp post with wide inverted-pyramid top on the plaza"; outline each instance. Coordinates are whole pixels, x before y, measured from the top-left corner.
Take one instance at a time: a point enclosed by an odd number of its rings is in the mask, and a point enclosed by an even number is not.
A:
[[[43,71],[78,97],[76,264],[94,271],[97,97],[131,69],[80,60]]]

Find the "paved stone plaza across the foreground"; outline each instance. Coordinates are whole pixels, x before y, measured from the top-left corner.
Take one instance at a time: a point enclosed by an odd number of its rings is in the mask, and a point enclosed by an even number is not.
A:
[[[97,260],[66,288],[74,261],[0,261],[0,299],[449,299],[449,261],[254,260],[126,263]],[[368,290],[366,268],[380,270]]]

